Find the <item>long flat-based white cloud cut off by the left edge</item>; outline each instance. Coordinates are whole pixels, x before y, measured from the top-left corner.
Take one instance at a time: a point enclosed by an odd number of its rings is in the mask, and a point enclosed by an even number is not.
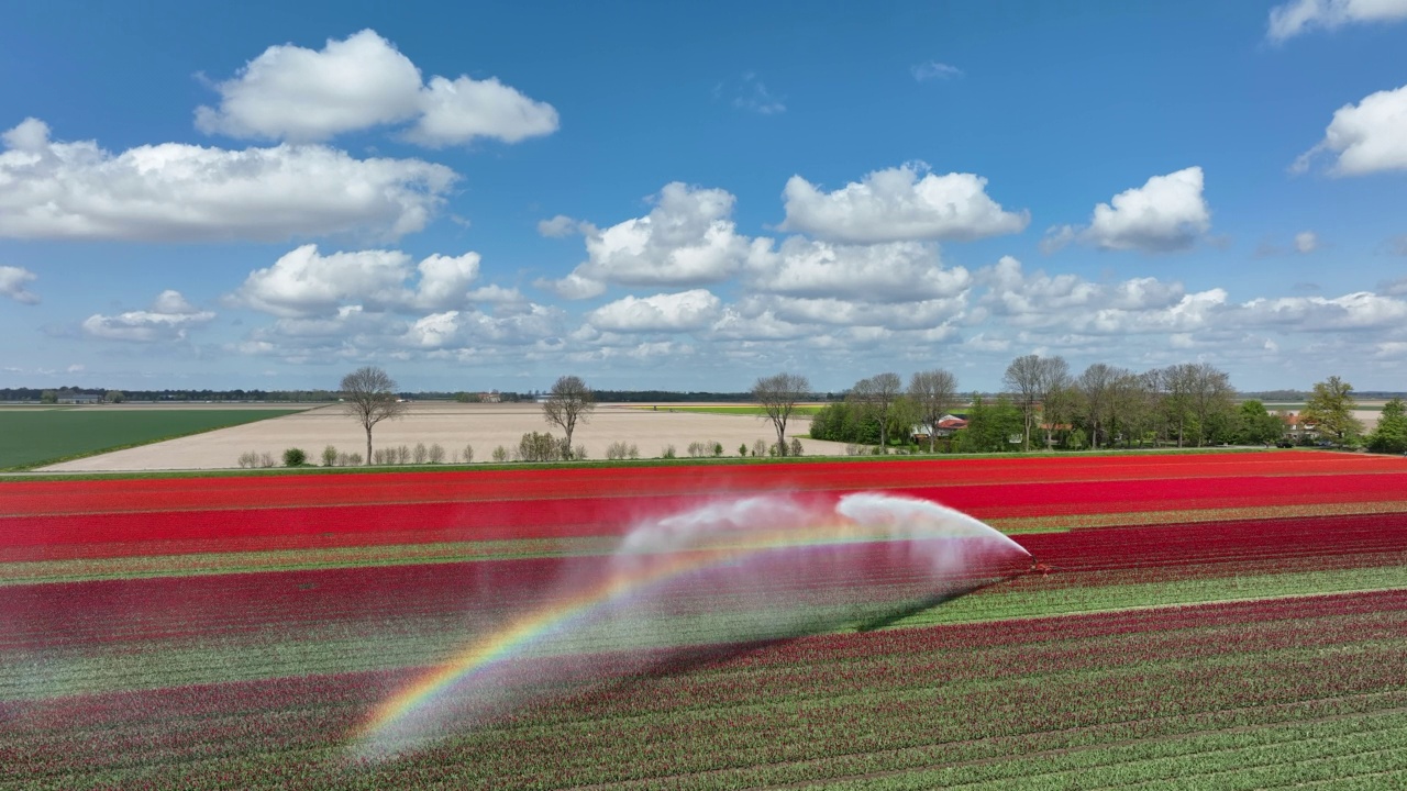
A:
[[[281,241],[419,231],[457,176],[419,159],[353,159],[325,146],[225,151],[144,145],[113,155],[55,142],[28,118],[4,132],[0,236]]]

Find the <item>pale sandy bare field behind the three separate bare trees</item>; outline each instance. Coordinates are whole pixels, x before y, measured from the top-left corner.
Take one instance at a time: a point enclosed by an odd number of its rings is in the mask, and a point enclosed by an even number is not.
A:
[[[846,446],[839,442],[809,439],[806,436],[809,429],[806,418],[792,418],[787,436],[801,438],[806,455],[846,452]],[[563,435],[561,429],[543,419],[542,407],[536,404],[418,403],[411,404],[404,418],[378,424],[373,441],[376,448],[398,445],[414,448],[418,442],[425,445],[438,442],[445,448],[447,462],[453,460],[456,453],[463,453],[464,445],[473,445],[474,462],[488,462],[495,446],[502,445],[511,450],[518,446],[519,438],[530,431]],[[736,456],[740,443],[751,448],[757,439],[775,442],[777,435],[771,422],[753,415],[671,412],[667,405],[651,411],[639,405],[601,404],[588,422],[577,425],[573,445],[585,445],[590,459],[605,459],[606,446],[612,442],[635,443],[642,457],[661,456],[666,446],[674,445],[675,453],[684,457],[688,456],[691,442],[722,442],[723,453]],[[52,472],[221,469],[238,466],[241,453],[269,452],[281,457],[286,448],[301,448],[310,460],[321,463],[321,453],[326,445],[364,455],[366,434],[340,407],[328,405],[44,469]]]

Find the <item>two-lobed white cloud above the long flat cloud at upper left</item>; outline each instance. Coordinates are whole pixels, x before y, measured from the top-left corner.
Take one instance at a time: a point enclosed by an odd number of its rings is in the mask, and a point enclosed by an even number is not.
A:
[[[411,125],[404,137],[439,148],[476,138],[518,142],[557,129],[557,111],[497,77],[432,77],[376,31],[321,51],[276,45],[218,83],[219,107],[196,110],[196,127],[235,138],[324,141],[387,124]]]

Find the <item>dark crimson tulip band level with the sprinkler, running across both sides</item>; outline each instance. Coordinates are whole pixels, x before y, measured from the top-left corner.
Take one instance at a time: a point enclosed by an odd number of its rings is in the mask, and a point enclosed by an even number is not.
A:
[[[1256,570],[1370,567],[1401,562],[1407,514],[1099,528],[1033,533],[1020,542],[1055,567],[1050,577],[1034,580],[1043,587],[1085,586],[1089,580],[1083,574],[1112,570],[1130,571],[1114,580],[1128,584]],[[834,583],[829,576],[823,587],[816,580],[792,578],[785,564],[777,564],[763,569],[763,581],[749,591],[796,604],[826,601],[827,590],[900,598],[919,594],[933,580],[922,564],[924,556],[893,556],[882,543],[832,552]],[[570,595],[561,581],[581,584],[601,577],[612,563],[611,556],[533,557],[8,586],[0,597],[0,621],[8,626],[0,645],[217,635],[453,612],[490,616],[547,607],[553,597]],[[1003,566],[998,571],[1012,570]],[[979,570],[978,578],[986,576]],[[668,591],[668,600],[678,607],[696,601],[695,609],[716,608],[723,604],[712,590],[718,581],[709,576],[685,578]],[[689,586],[704,595],[687,590]]]

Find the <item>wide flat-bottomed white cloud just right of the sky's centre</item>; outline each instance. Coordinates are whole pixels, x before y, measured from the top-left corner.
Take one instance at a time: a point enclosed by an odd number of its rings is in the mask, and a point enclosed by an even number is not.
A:
[[[1030,222],[1029,213],[1006,211],[993,201],[986,179],[938,176],[922,162],[875,170],[830,193],[792,176],[784,194],[784,231],[833,242],[969,241],[1019,234]]]

